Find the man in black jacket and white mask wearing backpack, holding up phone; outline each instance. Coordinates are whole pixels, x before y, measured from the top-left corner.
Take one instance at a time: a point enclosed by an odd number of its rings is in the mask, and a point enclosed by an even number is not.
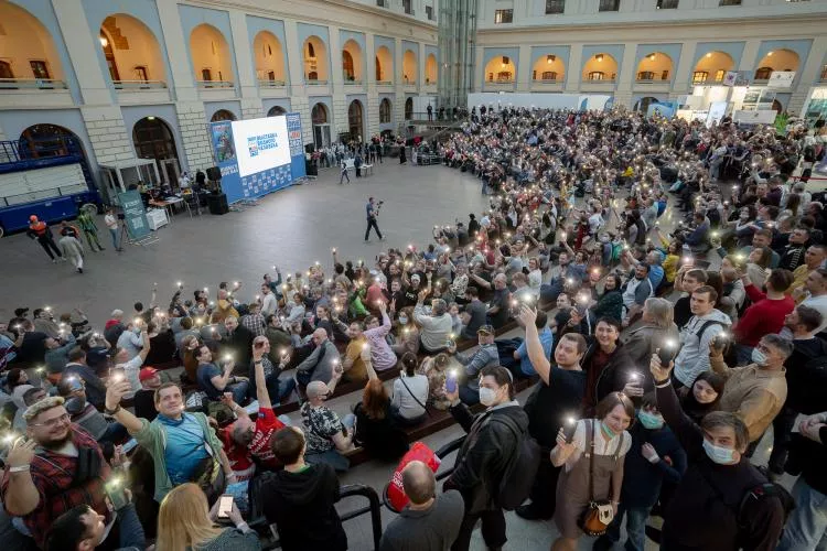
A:
[[[528,415],[515,396],[512,375],[501,366],[484,367],[480,371],[480,403],[487,409],[476,417],[460,401],[459,390],[445,390],[451,415],[469,433],[457,454],[454,471],[442,487],[445,491],[459,490],[465,503],[465,516],[452,551],[468,551],[477,520],[482,520],[482,534],[488,549],[502,549],[507,541],[505,516],[492,490],[500,488],[505,468],[519,444],[511,425],[516,424],[524,434],[528,430]]]

